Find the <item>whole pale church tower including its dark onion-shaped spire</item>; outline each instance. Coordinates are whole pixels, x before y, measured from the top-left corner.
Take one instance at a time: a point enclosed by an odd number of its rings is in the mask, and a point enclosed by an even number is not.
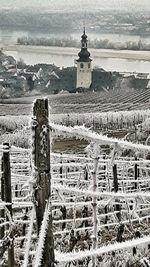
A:
[[[77,81],[76,88],[89,88],[92,83],[92,68],[90,53],[87,50],[87,35],[85,34],[85,27],[83,35],[81,36],[81,51],[77,63]]]

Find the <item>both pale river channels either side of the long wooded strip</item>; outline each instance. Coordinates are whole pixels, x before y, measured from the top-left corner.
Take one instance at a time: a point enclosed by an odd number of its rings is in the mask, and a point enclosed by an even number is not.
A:
[[[5,44],[15,44],[18,37],[66,37],[66,33],[41,33],[37,31],[25,31],[25,30],[10,30],[0,29],[0,42]],[[80,42],[81,33],[68,33],[67,37],[72,37]],[[150,37],[142,37],[138,35],[123,35],[123,34],[97,34],[89,33],[89,39],[108,39],[110,41],[138,41],[143,40],[150,42]],[[37,53],[37,52],[25,52],[25,51],[6,51],[8,55],[13,56],[16,60],[22,58],[26,64],[34,65],[37,63],[55,64],[59,67],[73,66],[74,60],[77,56],[72,55],[58,55],[50,53]],[[150,72],[150,61],[147,60],[129,60],[122,58],[106,58],[106,57],[92,57],[93,67],[98,66],[107,71],[127,71],[127,72]]]

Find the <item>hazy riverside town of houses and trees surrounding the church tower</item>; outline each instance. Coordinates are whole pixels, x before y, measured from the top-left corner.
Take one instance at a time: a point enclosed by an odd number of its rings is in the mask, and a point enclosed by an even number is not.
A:
[[[124,88],[149,87],[150,75],[144,73],[107,72],[92,70],[89,88],[77,88],[77,68],[59,68],[53,64],[26,65],[0,52],[0,99],[40,94],[109,91]]]

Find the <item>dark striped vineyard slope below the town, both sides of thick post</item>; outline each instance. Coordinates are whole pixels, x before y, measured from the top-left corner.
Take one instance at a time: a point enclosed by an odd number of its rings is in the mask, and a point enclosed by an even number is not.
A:
[[[38,96],[43,97],[43,96]],[[150,89],[49,95],[51,113],[95,113],[150,108]],[[0,115],[29,115],[37,97],[3,100]]]

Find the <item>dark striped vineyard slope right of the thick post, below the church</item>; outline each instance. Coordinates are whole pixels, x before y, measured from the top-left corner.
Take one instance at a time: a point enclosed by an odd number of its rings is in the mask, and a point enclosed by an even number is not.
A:
[[[150,89],[50,97],[53,113],[88,113],[148,109]]]

